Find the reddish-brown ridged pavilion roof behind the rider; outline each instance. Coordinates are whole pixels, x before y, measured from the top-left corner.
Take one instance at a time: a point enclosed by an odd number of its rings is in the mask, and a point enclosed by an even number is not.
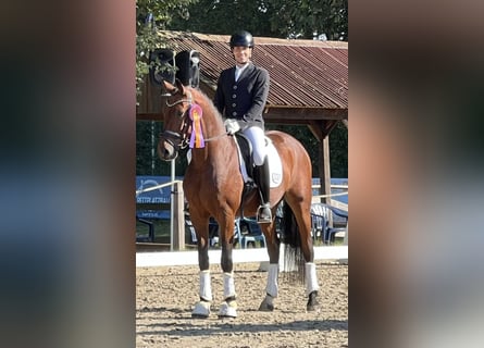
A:
[[[200,52],[200,89],[212,97],[220,72],[234,64],[229,36],[169,30],[159,35],[175,52]],[[348,42],[255,37],[252,61],[271,76],[268,123],[322,127],[324,137],[337,121],[348,119]],[[157,88],[149,80],[145,85],[137,119],[161,120]],[[321,124],[323,120],[333,122]]]

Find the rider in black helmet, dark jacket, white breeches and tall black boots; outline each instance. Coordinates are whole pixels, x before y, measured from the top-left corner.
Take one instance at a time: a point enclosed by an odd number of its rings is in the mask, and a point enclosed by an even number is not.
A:
[[[261,197],[258,221],[272,221],[270,202],[269,161],[264,140],[262,112],[269,95],[269,72],[251,61],[253,37],[240,30],[231,37],[231,51],[235,66],[220,74],[214,104],[224,115],[229,134],[241,129],[252,145],[253,176]]]

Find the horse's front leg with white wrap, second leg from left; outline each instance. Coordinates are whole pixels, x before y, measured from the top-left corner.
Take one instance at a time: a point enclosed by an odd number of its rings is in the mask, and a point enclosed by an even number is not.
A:
[[[223,228],[224,227],[224,228]],[[221,225],[222,237],[222,271],[224,285],[224,301],[220,306],[219,318],[236,318],[237,301],[234,283],[234,263],[232,261],[232,249],[234,247],[234,225]],[[225,232],[222,232],[225,231]]]

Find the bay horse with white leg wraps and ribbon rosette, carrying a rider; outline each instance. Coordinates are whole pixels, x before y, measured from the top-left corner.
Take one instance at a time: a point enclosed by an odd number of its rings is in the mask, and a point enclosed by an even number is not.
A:
[[[188,202],[191,223],[198,240],[199,295],[194,318],[208,318],[212,301],[209,263],[209,219],[219,224],[222,248],[224,300],[219,318],[236,318],[237,302],[234,284],[232,250],[234,221],[243,212],[255,216],[259,207],[258,190],[252,189],[243,199],[244,178],[240,172],[238,149],[233,135],[226,133],[224,121],[213,102],[199,89],[164,82],[162,85],[163,130],[157,147],[158,156],[174,160],[178,151],[190,144],[191,160],[187,166],[183,188]],[[318,278],[313,262],[314,251],[310,232],[312,199],[312,167],[302,145],[288,134],[271,130],[266,137],[281,157],[283,175],[278,187],[271,188],[271,209],[275,216],[277,204],[284,200],[285,231],[277,236],[274,217],[260,224],[265,236],[270,265],[265,297],[260,311],[273,311],[277,297],[278,259],[281,243],[290,245],[300,258],[299,274],[306,279],[307,310],[318,308]],[[287,258],[295,253],[285,252]],[[302,259],[303,258],[303,259]]]

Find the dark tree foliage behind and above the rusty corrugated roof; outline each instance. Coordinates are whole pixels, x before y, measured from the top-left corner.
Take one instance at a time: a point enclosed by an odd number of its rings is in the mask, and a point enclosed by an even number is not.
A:
[[[348,0],[200,0],[167,28],[227,35],[348,40]],[[324,36],[323,36],[324,35]]]

